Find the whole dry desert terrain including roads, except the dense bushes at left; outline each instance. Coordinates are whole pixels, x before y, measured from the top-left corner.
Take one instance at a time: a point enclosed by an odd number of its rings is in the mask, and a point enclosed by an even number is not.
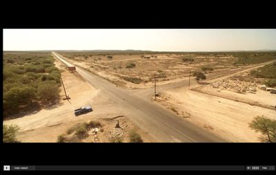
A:
[[[276,119],[275,52],[47,54],[64,88],[55,105],[3,120],[21,142],[260,142],[250,122]]]

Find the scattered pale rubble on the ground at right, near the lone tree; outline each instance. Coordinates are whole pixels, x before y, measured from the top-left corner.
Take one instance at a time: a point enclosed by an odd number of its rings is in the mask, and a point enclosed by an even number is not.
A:
[[[244,82],[240,80],[221,80],[210,84],[215,89],[225,89],[237,93],[256,93],[257,84],[255,82]]]

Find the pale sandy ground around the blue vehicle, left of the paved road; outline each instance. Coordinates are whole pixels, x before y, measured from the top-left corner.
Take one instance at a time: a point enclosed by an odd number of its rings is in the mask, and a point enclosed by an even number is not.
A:
[[[100,89],[95,89],[83,80],[78,73],[66,71],[65,66],[61,62],[56,61],[55,64],[61,70],[61,77],[66,87],[66,93],[69,93],[71,99],[61,99],[55,107],[43,109],[35,114],[3,121],[4,125],[19,125],[20,130],[17,138],[21,142],[57,142],[59,135],[65,133],[68,128],[78,122],[124,115],[124,110],[120,109],[118,105],[112,104],[101,93]],[[60,89],[61,98],[64,98],[65,93],[62,86]],[[94,111],[76,117],[74,110],[85,105],[92,106]],[[124,120],[131,123],[127,117]],[[150,140],[149,136],[140,131],[139,128],[137,128],[137,132],[141,134],[144,140]]]

